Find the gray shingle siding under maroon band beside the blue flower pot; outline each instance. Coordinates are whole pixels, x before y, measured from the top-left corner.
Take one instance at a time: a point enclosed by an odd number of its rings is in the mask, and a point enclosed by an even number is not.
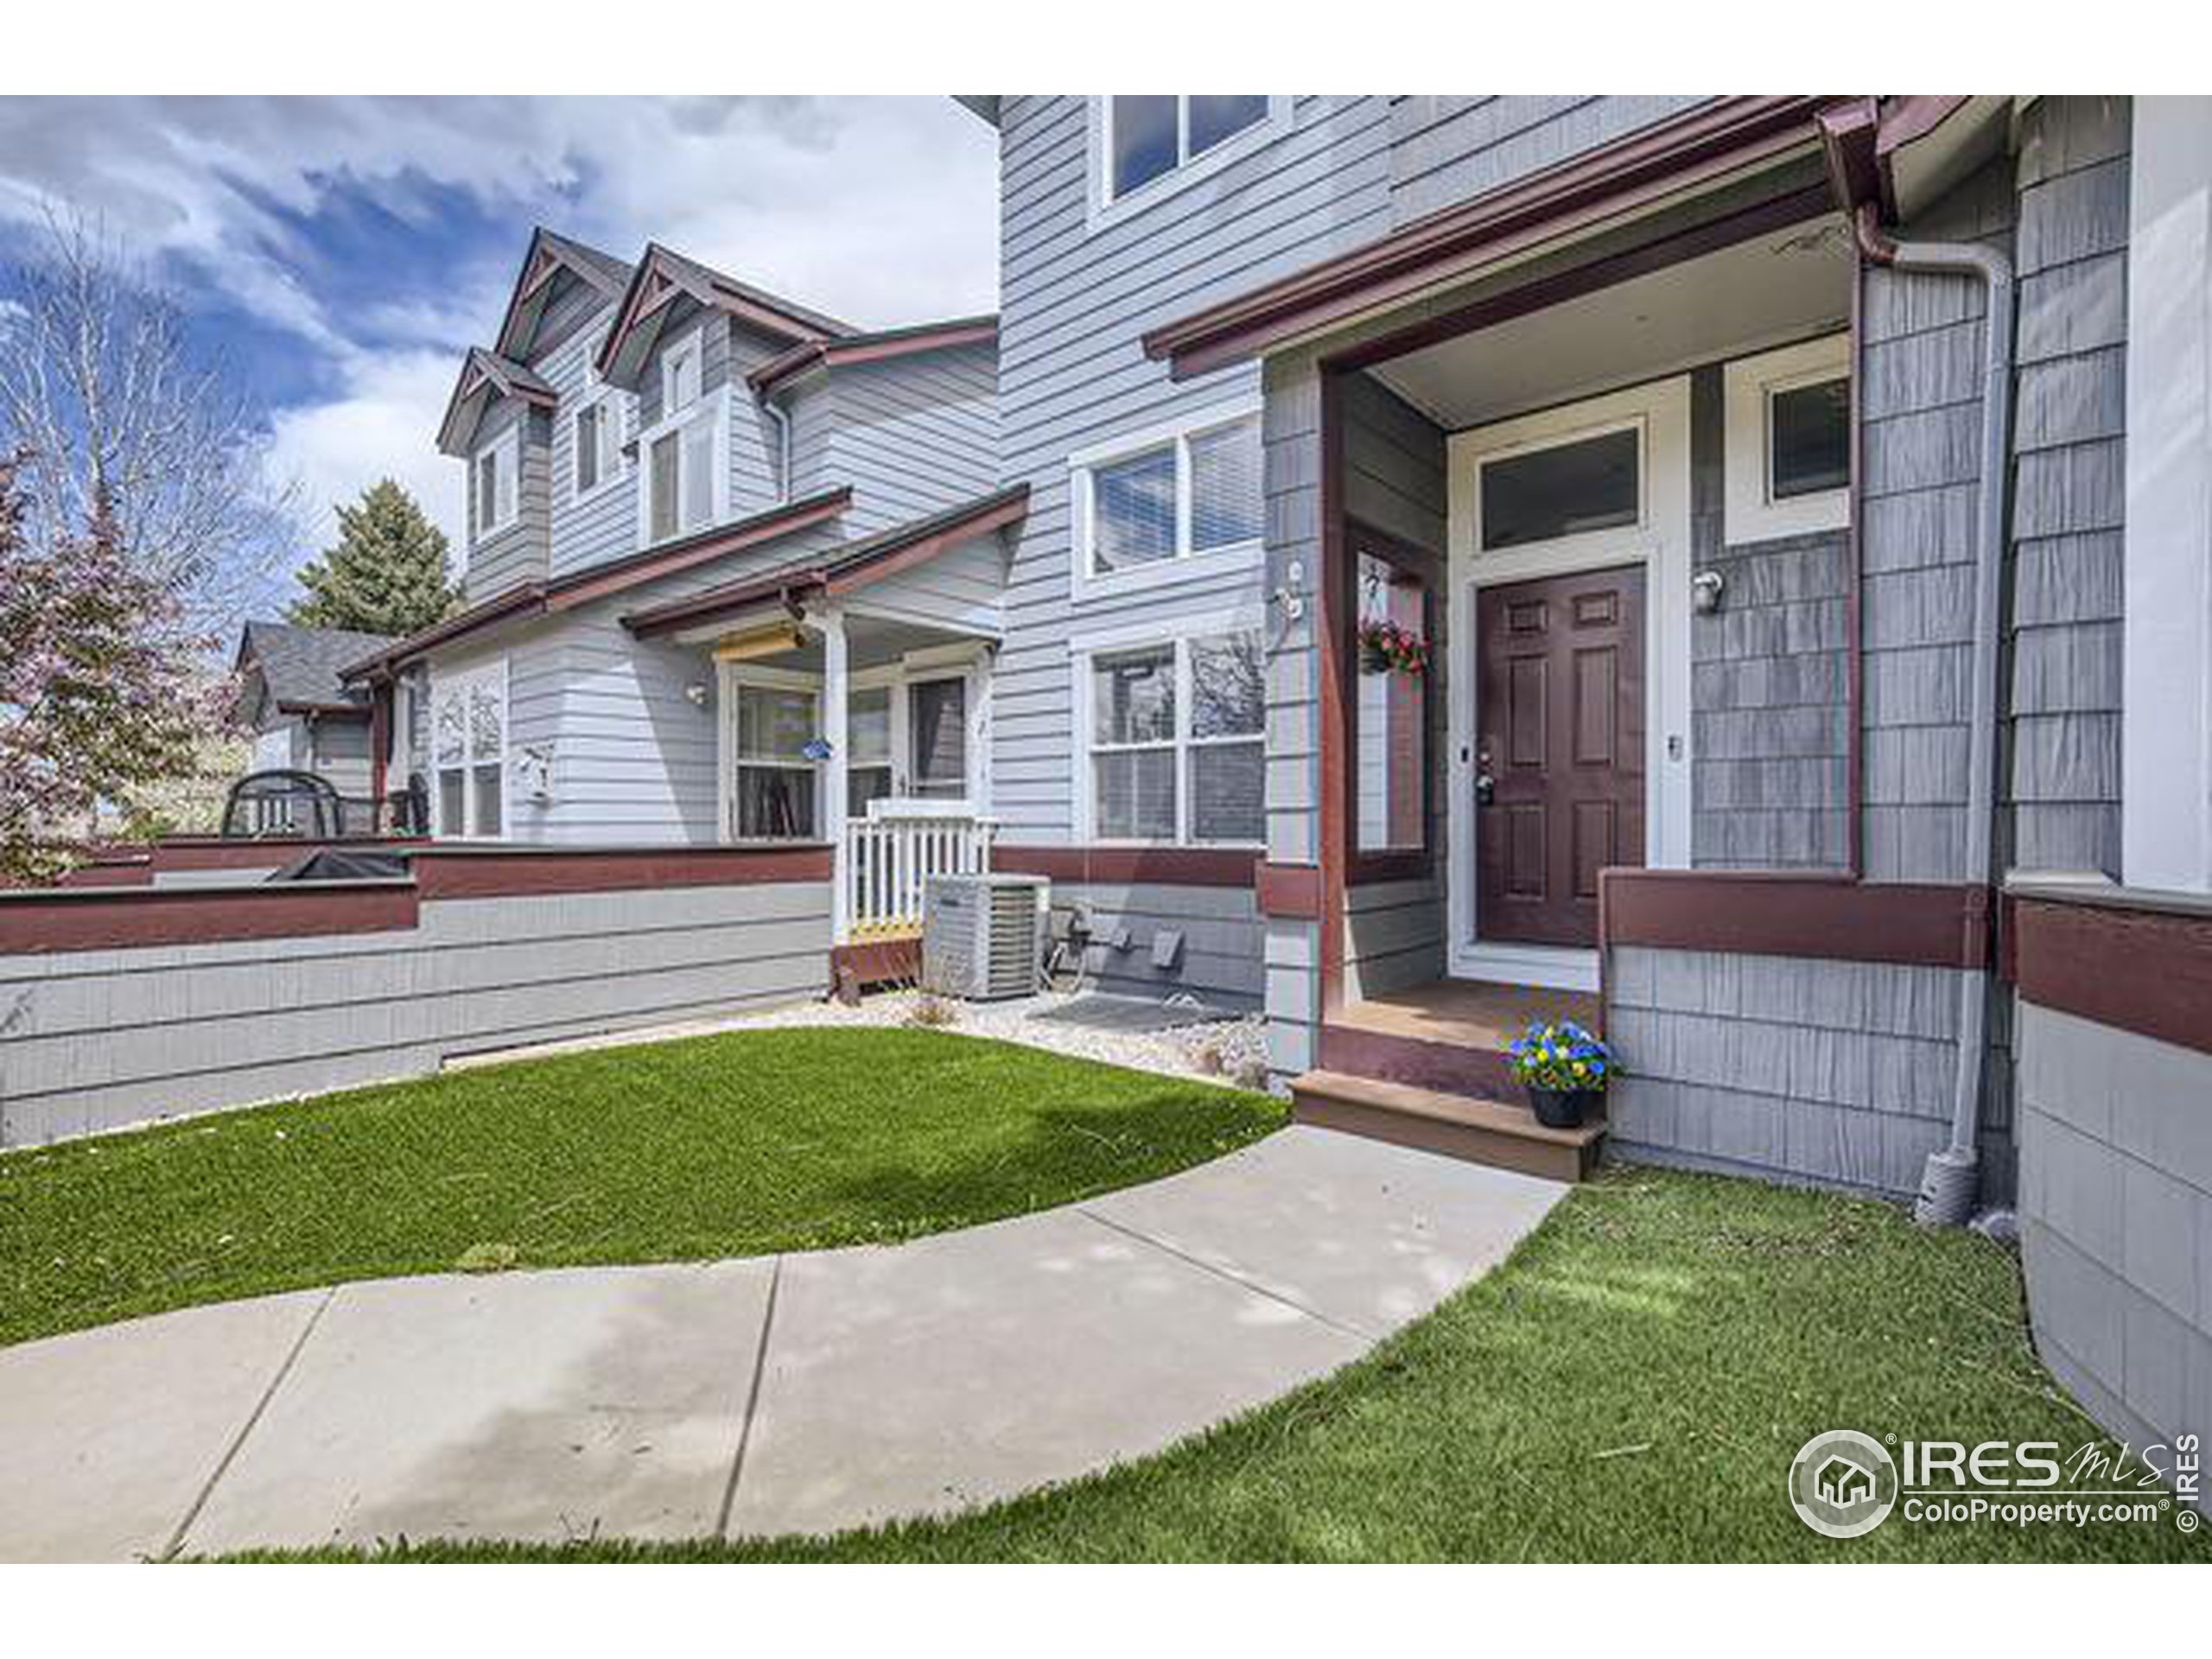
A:
[[[1958,973],[1615,947],[1608,1115],[1630,1159],[1893,1197],[1949,1139]],[[1984,1192],[2008,1186],[2002,1133]]]

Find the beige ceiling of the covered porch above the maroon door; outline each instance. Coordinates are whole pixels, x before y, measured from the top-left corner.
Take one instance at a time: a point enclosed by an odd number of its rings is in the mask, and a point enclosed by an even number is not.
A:
[[[1823,215],[1371,369],[1460,431],[1843,327],[1851,237]]]

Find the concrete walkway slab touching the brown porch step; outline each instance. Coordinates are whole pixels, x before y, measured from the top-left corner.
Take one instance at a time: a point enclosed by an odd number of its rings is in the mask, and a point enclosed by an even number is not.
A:
[[[1495,1267],[1568,1188],[1294,1126],[1082,1208],[1365,1336]]]

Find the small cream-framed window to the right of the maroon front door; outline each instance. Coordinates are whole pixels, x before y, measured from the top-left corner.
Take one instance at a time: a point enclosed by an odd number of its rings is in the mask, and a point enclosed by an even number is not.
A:
[[[1728,542],[1851,522],[1851,338],[1736,358],[1725,374]]]

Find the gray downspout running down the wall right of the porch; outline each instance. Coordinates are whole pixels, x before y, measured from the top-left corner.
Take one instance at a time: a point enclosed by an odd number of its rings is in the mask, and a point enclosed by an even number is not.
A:
[[[1973,714],[1966,752],[1966,867],[1971,891],[1991,883],[1991,830],[1997,810],[1997,628],[2004,577],[2006,480],[2013,434],[2013,265],[1971,241],[1891,241],[1874,204],[1851,219],[1860,252],[1905,272],[1975,276],[1989,294],[1982,319],[1982,473],[1973,546]],[[1978,1133],[1989,1046],[1989,969],[1960,975],[1958,1064],[1951,1082],[1951,1144],[1929,1152],[1913,1214],[1927,1225],[1960,1225],[1980,1186]]]

